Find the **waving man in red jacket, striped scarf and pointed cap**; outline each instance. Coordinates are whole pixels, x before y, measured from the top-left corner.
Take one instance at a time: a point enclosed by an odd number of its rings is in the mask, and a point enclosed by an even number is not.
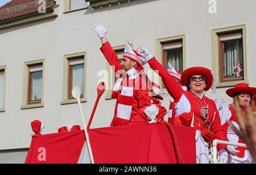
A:
[[[145,122],[145,117],[143,118],[142,115],[157,115],[159,111],[156,106],[151,106],[150,90],[140,73],[147,61],[133,50],[128,42],[126,42],[123,61],[119,61],[117,53],[106,38],[108,27],[98,22],[92,29],[101,39],[101,52],[119,76],[112,93],[112,98],[116,98],[117,103],[111,126]]]

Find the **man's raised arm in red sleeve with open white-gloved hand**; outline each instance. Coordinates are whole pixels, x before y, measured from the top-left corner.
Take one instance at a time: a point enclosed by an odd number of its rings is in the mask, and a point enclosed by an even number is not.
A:
[[[121,62],[118,60],[117,53],[115,53],[108,39],[106,38],[108,28],[109,25],[104,27],[103,23],[100,22],[98,22],[97,24],[93,24],[92,27],[92,29],[96,31],[98,37],[101,39],[101,52],[103,53],[106,60],[109,62],[109,64],[112,66],[116,73],[118,70],[122,69],[122,66],[120,65]]]

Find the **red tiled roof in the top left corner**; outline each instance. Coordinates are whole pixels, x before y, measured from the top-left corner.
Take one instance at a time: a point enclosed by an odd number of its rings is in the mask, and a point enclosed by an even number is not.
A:
[[[45,0],[46,9],[55,6],[55,0]],[[18,16],[24,16],[34,12],[38,12],[40,4],[38,0],[13,0],[6,5],[0,7],[0,22],[16,18]]]

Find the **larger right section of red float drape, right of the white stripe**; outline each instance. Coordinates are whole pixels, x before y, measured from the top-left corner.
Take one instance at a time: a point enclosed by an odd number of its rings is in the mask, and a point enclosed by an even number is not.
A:
[[[195,130],[172,126],[176,131],[184,163],[196,163]],[[94,161],[100,164],[170,164],[177,163],[174,143],[165,124],[90,130]]]

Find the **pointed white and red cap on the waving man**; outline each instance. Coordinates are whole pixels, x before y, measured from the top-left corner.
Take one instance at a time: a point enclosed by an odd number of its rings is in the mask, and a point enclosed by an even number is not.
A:
[[[143,66],[147,63],[147,60],[144,59],[141,54],[139,54],[137,51],[131,48],[128,41],[126,41],[125,52],[123,53],[123,57],[126,57],[127,59],[137,62],[140,66]]]

